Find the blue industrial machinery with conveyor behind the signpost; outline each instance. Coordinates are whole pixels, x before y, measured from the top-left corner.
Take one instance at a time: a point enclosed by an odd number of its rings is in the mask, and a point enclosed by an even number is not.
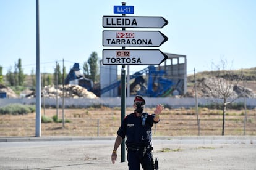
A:
[[[109,84],[109,86],[103,87],[101,89],[93,88],[92,80],[84,78],[79,70],[79,64],[75,63],[74,67],[70,70],[69,74],[65,79],[65,84],[77,84],[88,89],[88,91],[92,91],[93,93],[95,93],[95,95],[98,96],[110,91],[111,89],[120,87],[121,85],[120,79],[112,84]],[[143,74],[145,74],[144,78],[147,79],[147,83],[143,78]],[[137,71],[133,75],[130,75],[130,80],[135,79],[134,82],[130,84],[130,91],[133,91],[135,86],[139,85],[140,90],[135,93],[147,97],[166,97],[171,94],[174,89],[180,92],[179,89],[181,88],[179,86],[182,86],[182,82],[178,81],[177,83],[174,83],[169,79],[163,78],[164,74],[164,70],[158,71],[152,65],[140,71]]]

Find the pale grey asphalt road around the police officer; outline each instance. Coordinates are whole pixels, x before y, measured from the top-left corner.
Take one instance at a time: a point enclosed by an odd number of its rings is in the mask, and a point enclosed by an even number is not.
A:
[[[0,138],[0,169],[128,169],[115,137]],[[256,136],[158,137],[159,169],[256,169]]]

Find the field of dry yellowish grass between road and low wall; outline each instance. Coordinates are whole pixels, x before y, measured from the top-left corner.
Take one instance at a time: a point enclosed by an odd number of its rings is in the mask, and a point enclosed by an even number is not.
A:
[[[127,108],[126,115],[132,113]],[[145,110],[153,113],[153,109]],[[121,123],[120,108],[87,108],[66,109],[65,119],[70,123],[42,123],[42,136],[116,136]],[[44,115],[44,110],[41,111]],[[47,109],[45,115],[52,117],[56,110]],[[0,115],[0,136],[35,136],[35,113],[27,115]],[[59,109],[59,119],[62,119],[62,110]],[[244,134],[244,111],[228,110],[226,114],[225,135]],[[220,110],[200,108],[200,135],[221,135],[222,113]],[[195,110],[164,109],[161,121],[153,126],[154,136],[197,136],[198,125]],[[256,134],[256,109],[247,110],[245,134]]]

